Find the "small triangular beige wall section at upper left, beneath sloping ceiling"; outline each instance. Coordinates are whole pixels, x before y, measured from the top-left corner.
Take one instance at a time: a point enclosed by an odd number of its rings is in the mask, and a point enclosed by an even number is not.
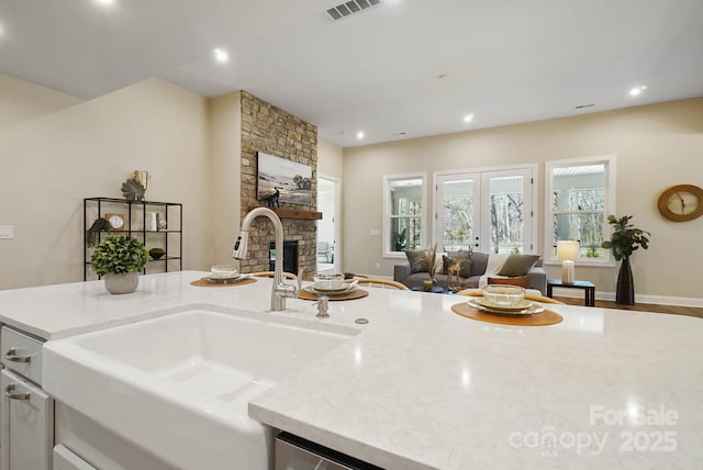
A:
[[[80,98],[0,74],[0,128],[81,101]]]

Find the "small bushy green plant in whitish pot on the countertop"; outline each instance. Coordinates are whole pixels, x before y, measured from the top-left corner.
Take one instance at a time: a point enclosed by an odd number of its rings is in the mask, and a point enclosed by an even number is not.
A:
[[[98,276],[104,277],[110,293],[130,293],[140,284],[140,271],[147,259],[142,242],[119,235],[109,236],[96,247],[90,255],[90,265]]]

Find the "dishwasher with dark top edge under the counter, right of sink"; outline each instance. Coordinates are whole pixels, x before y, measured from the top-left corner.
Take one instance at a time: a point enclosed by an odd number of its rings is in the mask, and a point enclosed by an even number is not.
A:
[[[276,470],[383,470],[289,433],[276,436]]]

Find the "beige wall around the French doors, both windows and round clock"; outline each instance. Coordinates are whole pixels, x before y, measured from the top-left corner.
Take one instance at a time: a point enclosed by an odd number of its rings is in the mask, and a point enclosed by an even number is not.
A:
[[[657,198],[669,186],[703,187],[703,99],[693,99],[578,118],[402,141],[344,150],[345,271],[392,276],[398,259],[382,258],[382,176],[538,164],[537,251],[544,251],[544,161],[617,156],[617,215],[634,214],[651,232],[647,251],[633,258],[637,300],[703,304],[696,249],[703,217],[673,223],[657,211]],[[429,184],[428,184],[429,186]],[[432,193],[427,190],[428,205]],[[375,268],[379,264],[379,269]],[[547,267],[559,277],[558,266]],[[577,278],[595,282],[601,293],[615,289],[616,268],[577,267]]]

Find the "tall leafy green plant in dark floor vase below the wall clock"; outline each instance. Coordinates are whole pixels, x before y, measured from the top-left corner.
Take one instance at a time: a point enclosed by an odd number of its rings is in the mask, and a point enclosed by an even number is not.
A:
[[[607,223],[613,226],[613,234],[610,240],[603,242],[603,248],[613,251],[615,260],[623,262],[617,273],[617,287],[615,290],[615,302],[625,305],[635,304],[635,283],[633,271],[629,266],[629,257],[641,247],[647,249],[649,245],[649,232],[635,227],[629,223],[632,215],[617,219],[615,215],[607,216]]]

